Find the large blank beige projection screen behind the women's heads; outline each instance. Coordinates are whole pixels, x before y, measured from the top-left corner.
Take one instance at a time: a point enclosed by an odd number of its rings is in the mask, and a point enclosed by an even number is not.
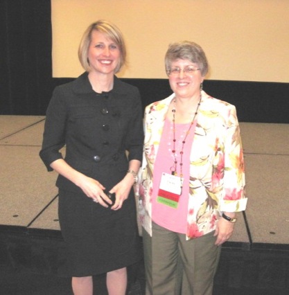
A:
[[[166,78],[170,42],[189,39],[207,54],[213,80],[289,82],[289,0],[52,0],[53,77],[82,73],[84,30],[107,19],[128,46],[123,78]]]

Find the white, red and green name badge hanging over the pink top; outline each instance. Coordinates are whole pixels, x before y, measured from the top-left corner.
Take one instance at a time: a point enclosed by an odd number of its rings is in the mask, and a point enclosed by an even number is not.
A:
[[[181,184],[182,179],[180,177],[162,173],[159,192],[157,193],[157,202],[172,208],[177,208],[179,197],[182,194]]]

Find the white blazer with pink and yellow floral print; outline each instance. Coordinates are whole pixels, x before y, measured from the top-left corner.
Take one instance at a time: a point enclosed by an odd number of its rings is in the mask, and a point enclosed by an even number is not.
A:
[[[148,105],[144,114],[145,141],[139,170],[139,220],[152,235],[154,164],[168,106],[175,97]],[[245,174],[236,108],[202,91],[190,154],[189,204],[186,239],[216,229],[222,212],[244,211]]]

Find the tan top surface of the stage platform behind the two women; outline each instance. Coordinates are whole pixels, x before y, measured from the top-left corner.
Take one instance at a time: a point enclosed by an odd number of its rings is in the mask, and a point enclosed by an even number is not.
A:
[[[60,231],[55,172],[40,160],[44,116],[0,116],[0,229]],[[289,125],[240,123],[247,210],[229,242],[289,244]]]

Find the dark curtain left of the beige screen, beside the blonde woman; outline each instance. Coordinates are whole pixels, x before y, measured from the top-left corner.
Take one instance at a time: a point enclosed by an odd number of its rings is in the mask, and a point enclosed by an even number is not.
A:
[[[0,114],[45,114],[51,96],[51,0],[0,0]]]

